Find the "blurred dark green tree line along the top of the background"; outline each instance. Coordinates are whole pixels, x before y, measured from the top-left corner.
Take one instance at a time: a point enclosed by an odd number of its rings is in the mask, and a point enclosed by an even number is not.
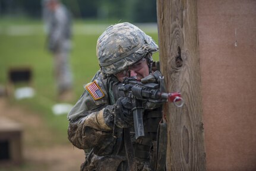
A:
[[[0,0],[0,16],[40,18],[42,0]],[[156,0],[62,0],[74,18],[156,22]]]

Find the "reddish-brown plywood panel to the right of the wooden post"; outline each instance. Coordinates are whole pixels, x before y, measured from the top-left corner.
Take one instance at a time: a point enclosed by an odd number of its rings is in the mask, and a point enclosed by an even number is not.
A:
[[[256,1],[198,1],[207,170],[256,170]]]

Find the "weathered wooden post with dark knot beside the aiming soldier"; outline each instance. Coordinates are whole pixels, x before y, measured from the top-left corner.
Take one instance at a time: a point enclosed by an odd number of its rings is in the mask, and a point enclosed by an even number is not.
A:
[[[164,106],[167,170],[206,170],[196,0],[157,0],[160,69],[184,106]]]

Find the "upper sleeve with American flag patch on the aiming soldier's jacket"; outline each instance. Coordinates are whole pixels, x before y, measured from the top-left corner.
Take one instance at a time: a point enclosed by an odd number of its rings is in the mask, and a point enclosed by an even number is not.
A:
[[[86,116],[91,112],[102,109],[109,105],[108,91],[102,81],[102,74],[97,72],[90,83],[84,85],[84,93],[68,113],[68,120],[75,121],[81,116]]]

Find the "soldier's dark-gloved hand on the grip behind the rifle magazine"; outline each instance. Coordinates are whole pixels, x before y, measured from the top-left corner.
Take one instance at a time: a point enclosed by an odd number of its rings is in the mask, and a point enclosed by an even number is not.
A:
[[[119,128],[129,128],[133,125],[132,103],[128,97],[120,97],[115,104],[115,124]]]

